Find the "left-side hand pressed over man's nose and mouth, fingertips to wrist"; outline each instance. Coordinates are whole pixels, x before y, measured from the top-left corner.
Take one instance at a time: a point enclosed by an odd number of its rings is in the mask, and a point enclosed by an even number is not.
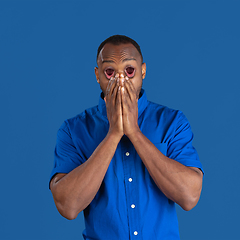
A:
[[[109,133],[117,134],[120,138],[123,136],[121,87],[119,85],[119,76],[111,78],[104,97],[107,117],[109,121]]]

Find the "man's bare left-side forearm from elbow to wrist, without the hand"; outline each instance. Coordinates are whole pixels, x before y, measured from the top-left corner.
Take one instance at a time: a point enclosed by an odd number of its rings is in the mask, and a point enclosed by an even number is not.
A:
[[[68,174],[57,174],[51,181],[51,191],[58,211],[74,219],[95,197],[101,186],[119,138],[108,134],[82,165]]]

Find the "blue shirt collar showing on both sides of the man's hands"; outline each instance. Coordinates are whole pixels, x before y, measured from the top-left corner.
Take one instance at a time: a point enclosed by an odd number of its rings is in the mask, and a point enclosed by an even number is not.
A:
[[[140,92],[140,98],[138,99],[138,117],[141,116],[145,108],[147,107],[147,95],[144,89],[141,89]],[[107,109],[106,109],[106,104],[103,99],[103,92],[100,94],[99,97],[99,103],[98,103],[98,109],[100,113],[107,118]]]

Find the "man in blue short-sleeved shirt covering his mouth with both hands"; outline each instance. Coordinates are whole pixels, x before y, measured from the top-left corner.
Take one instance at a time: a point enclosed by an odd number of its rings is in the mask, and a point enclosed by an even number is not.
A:
[[[175,203],[190,210],[202,165],[180,111],[149,102],[139,45],[115,35],[98,49],[99,104],[58,131],[50,188],[58,211],[84,211],[84,239],[179,239]]]

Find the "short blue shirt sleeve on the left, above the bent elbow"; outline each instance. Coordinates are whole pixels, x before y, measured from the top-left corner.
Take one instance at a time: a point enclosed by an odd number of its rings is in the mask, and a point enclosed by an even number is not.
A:
[[[82,157],[74,146],[68,124],[65,121],[57,133],[57,142],[54,151],[54,166],[50,175],[50,181],[57,173],[69,173],[82,162]]]

